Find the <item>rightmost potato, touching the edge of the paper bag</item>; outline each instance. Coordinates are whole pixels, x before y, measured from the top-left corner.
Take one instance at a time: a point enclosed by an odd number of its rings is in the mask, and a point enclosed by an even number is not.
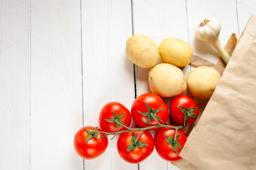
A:
[[[200,66],[189,72],[187,85],[191,95],[195,98],[205,100],[211,97],[219,80],[220,73],[216,69]]]

